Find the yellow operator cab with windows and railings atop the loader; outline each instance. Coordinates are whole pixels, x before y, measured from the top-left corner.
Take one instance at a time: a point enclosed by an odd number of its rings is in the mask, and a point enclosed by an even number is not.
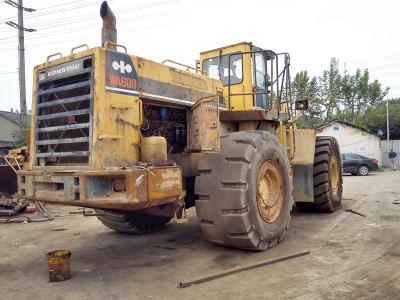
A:
[[[221,80],[229,110],[271,110],[288,93],[289,55],[243,42],[200,54],[200,68]]]

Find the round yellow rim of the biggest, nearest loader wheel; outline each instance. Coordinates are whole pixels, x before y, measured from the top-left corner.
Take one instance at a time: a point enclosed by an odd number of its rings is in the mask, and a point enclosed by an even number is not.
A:
[[[276,163],[264,162],[257,176],[257,207],[267,223],[274,222],[283,206],[283,181]]]

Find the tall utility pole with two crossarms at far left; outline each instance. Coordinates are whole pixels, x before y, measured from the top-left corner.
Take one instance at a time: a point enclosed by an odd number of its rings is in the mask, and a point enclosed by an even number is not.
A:
[[[23,127],[23,122],[26,119],[26,87],[25,87],[25,45],[24,45],[24,32],[34,32],[35,29],[24,27],[24,11],[34,12],[33,8],[26,8],[23,6],[22,0],[18,0],[18,3],[12,0],[4,1],[6,4],[11,5],[18,9],[18,24],[7,21],[7,25],[18,29],[18,71],[19,71],[19,126]]]

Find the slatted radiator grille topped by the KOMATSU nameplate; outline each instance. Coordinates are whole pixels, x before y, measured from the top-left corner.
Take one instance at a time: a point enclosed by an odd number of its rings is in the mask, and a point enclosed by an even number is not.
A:
[[[93,58],[64,65],[39,73],[34,148],[39,166],[90,164]]]

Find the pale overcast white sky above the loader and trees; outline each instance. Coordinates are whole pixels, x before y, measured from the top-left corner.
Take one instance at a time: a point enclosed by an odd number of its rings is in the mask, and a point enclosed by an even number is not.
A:
[[[17,1],[17,0],[15,0]],[[100,45],[102,1],[25,0],[27,105],[32,70],[50,54]],[[289,52],[291,74],[321,75],[336,57],[339,71],[368,69],[400,97],[400,1],[396,0],[110,0],[118,43],[154,61],[194,65],[199,53],[237,42]],[[19,109],[18,36],[5,24],[17,9],[0,1],[0,110]]]

